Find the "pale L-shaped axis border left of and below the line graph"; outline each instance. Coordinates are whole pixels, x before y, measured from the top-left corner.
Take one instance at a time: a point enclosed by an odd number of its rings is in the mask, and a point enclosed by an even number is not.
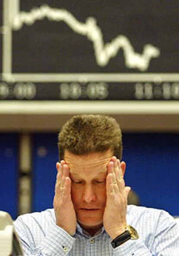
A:
[[[20,0],[3,0],[3,61],[2,78],[7,82],[178,82],[179,73],[13,73],[12,19],[19,13]]]

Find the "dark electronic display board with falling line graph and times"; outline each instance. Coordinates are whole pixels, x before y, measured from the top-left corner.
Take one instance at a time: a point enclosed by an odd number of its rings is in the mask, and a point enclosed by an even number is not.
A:
[[[0,100],[179,100],[179,3],[0,1]]]

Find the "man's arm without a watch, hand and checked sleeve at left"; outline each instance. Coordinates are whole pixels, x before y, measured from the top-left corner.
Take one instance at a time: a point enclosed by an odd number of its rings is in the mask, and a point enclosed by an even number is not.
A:
[[[26,214],[14,222],[25,255],[66,256],[75,242],[73,235],[77,220],[71,201],[69,167],[62,160],[61,163],[57,163],[57,170],[54,195],[55,223],[47,218],[44,219],[42,213]],[[47,223],[50,224],[46,232],[44,226],[48,225]]]

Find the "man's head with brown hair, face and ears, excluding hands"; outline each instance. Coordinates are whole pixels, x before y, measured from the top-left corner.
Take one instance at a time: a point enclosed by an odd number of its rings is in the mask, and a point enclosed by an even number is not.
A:
[[[95,233],[102,226],[105,210],[107,166],[112,156],[121,160],[121,129],[109,116],[78,115],[63,126],[58,138],[59,158],[70,169],[77,220]],[[124,175],[124,162],[121,170]]]

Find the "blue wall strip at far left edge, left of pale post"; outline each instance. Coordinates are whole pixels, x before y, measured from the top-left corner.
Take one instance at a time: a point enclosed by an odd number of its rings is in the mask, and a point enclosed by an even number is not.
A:
[[[17,216],[18,135],[0,133],[0,210]]]

